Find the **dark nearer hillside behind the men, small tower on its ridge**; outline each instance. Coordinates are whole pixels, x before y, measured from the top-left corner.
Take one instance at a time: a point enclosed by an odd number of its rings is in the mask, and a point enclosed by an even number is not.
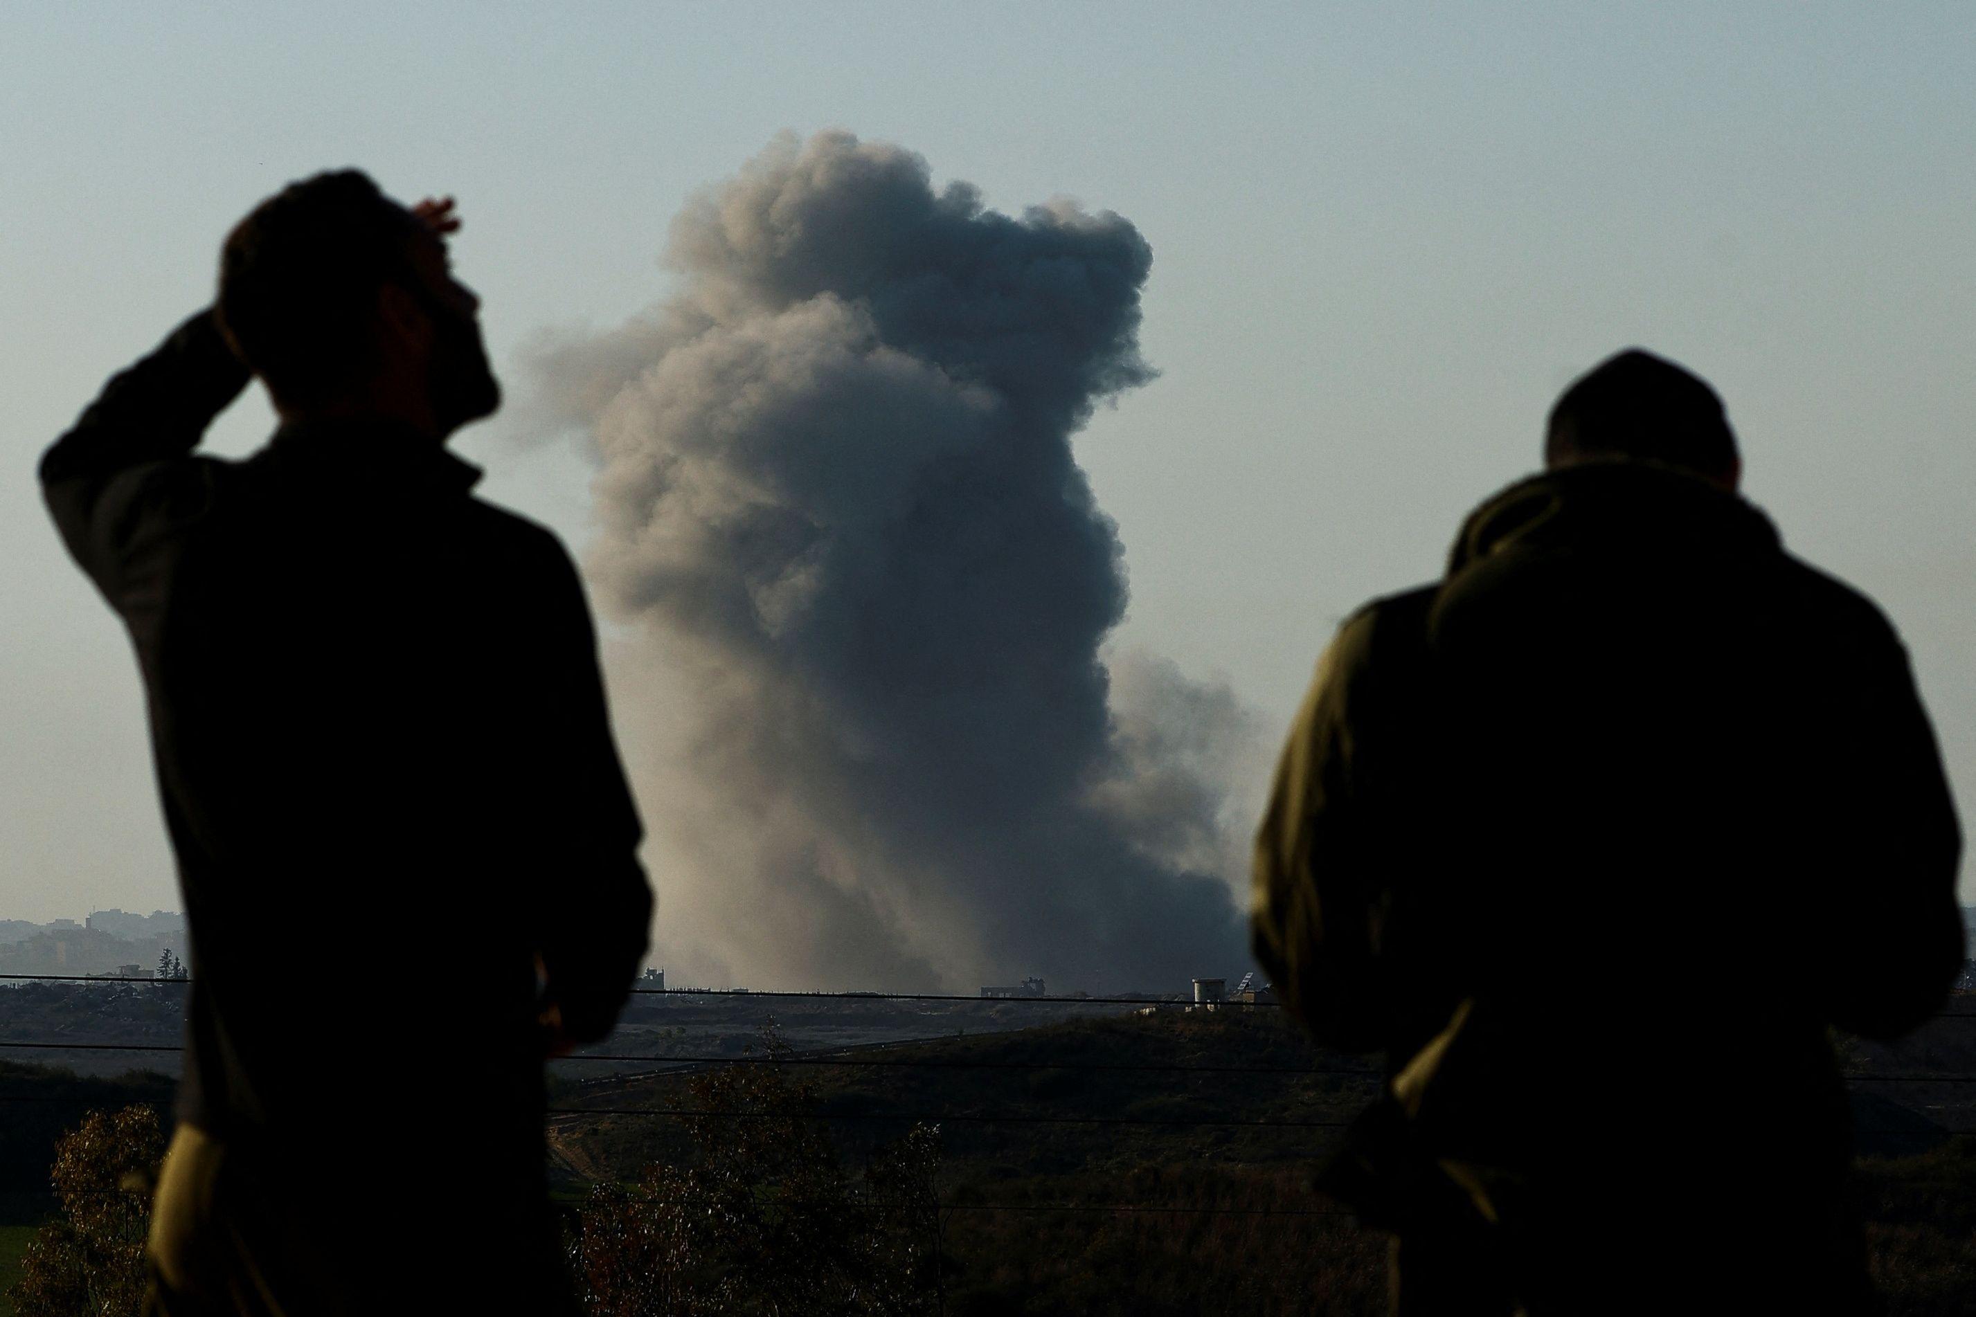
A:
[[[1909,1080],[1976,1074],[1976,1019],[1842,1054],[1865,1076],[1853,1086],[1861,1147],[1905,1153],[1861,1163],[1893,1311],[1968,1311],[1976,1139],[1950,1131],[1976,1123],[1972,1086]],[[759,1060],[757,1046],[745,1064]],[[696,1070],[559,1088],[563,1193],[690,1161],[690,1122],[666,1112],[696,1108]],[[1128,1013],[808,1054],[782,1070],[850,1167],[915,1120],[939,1123],[948,1311],[1383,1311],[1383,1236],[1310,1191],[1332,1122],[1377,1078],[1312,1048],[1276,1011]]]

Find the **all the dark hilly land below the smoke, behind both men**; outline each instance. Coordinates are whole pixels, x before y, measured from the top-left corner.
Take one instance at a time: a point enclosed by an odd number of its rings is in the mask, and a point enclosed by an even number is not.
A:
[[[6,989],[0,1037],[178,1041],[180,985]],[[1960,1313],[1976,1295],[1976,999],[1899,1043],[1842,1043],[1857,1082],[1863,1201],[1897,1313]],[[767,1066],[775,1019],[786,1064]],[[1310,1191],[1316,1165],[1377,1092],[1361,1058],[1326,1054],[1271,1009],[1109,1003],[919,1003],[867,997],[648,995],[591,1058],[555,1066],[559,1197],[650,1161],[690,1165],[696,1078],[735,1060],[781,1072],[856,1177],[913,1123],[937,1123],[939,1240],[952,1313],[1371,1313],[1377,1234]],[[79,1056],[105,1070],[172,1052]],[[628,1056],[634,1060],[603,1060]],[[0,1052],[4,1058],[6,1052]],[[53,1139],[91,1108],[164,1104],[162,1074],[0,1066],[8,1220],[47,1208]],[[1116,1210],[1134,1208],[1134,1210]],[[929,1222],[931,1228],[931,1222]]]

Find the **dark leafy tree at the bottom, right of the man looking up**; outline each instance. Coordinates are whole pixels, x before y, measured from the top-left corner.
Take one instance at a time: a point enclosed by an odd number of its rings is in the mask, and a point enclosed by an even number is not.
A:
[[[765,1058],[790,1054],[773,1025]],[[599,1185],[569,1240],[597,1317],[907,1317],[939,1287],[939,1135],[913,1127],[852,1181],[808,1086],[743,1062],[694,1080],[698,1165]]]

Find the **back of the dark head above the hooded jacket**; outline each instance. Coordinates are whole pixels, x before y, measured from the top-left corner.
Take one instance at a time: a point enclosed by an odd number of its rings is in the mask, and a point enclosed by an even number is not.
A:
[[[1606,357],[1551,407],[1545,464],[1583,458],[1664,462],[1705,476],[1733,472],[1739,462],[1715,389],[1638,348]]]

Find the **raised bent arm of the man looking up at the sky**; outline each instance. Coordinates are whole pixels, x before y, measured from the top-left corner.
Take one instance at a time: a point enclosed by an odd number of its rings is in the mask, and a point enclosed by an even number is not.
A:
[[[207,472],[180,458],[247,379],[211,312],[202,310],[117,373],[41,456],[41,494],[55,527],[113,602],[130,549],[204,502]]]

